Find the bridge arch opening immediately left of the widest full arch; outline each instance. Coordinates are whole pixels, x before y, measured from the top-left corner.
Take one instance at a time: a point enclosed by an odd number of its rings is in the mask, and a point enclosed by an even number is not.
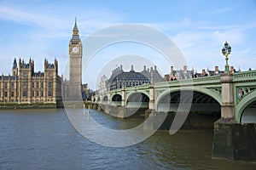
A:
[[[148,107],[149,96],[143,92],[132,92],[127,96],[127,107]]]

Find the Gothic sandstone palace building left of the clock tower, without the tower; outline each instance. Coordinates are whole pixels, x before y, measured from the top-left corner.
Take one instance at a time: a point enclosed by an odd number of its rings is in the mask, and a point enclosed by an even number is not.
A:
[[[44,72],[34,72],[34,61],[16,59],[12,76],[0,77],[0,102],[2,103],[56,103],[61,100],[62,78],[58,76],[58,62],[50,64],[44,59]]]

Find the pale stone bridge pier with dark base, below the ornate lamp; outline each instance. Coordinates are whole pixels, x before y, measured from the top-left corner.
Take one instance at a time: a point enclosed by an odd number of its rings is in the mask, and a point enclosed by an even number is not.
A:
[[[233,75],[221,76],[221,118],[214,122],[212,158],[231,160],[256,160],[255,124],[236,121]]]

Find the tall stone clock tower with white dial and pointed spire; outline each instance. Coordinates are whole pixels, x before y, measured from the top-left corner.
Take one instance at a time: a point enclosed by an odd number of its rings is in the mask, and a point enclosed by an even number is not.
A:
[[[69,42],[69,98],[73,100],[82,99],[82,52],[82,42],[75,19],[73,36]]]

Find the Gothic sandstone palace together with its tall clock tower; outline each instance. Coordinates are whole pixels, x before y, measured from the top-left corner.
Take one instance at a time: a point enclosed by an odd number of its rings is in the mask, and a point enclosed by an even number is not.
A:
[[[69,81],[58,75],[58,61],[44,59],[44,72],[34,71],[34,60],[14,59],[12,74],[0,76],[0,103],[55,104],[63,99],[82,98],[82,42],[77,21],[69,42]],[[63,95],[62,95],[63,94]]]

